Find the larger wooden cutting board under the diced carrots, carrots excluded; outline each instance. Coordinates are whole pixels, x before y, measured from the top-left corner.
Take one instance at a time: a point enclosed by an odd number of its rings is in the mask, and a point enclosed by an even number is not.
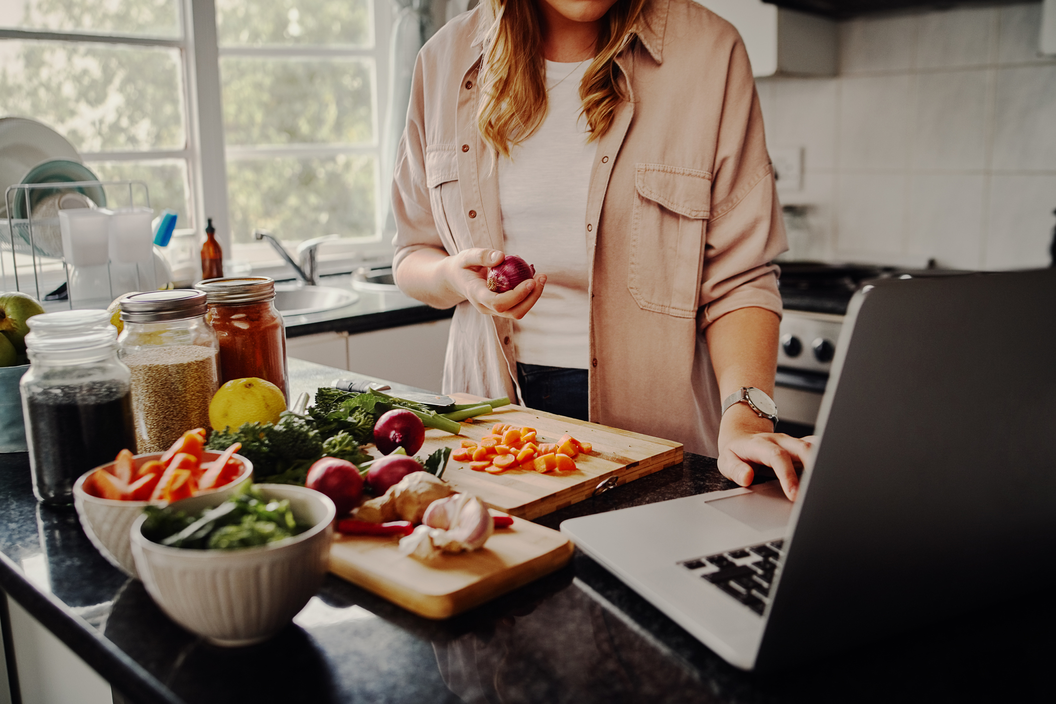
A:
[[[477,396],[454,394],[459,403],[482,400]],[[491,434],[495,423],[534,427],[540,442],[555,442],[565,433],[593,445],[590,456],[576,458],[576,472],[540,474],[531,470],[509,470],[503,474],[474,472],[468,462],[448,462],[444,478],[459,492],[478,496],[485,503],[513,516],[544,516],[589,498],[609,477],[620,484],[682,461],[682,444],[671,440],[555,416],[518,405],[495,410],[473,422],[463,422],[459,437],[429,429],[426,443],[416,454],[426,457],[445,445],[457,449],[464,438],[479,441]],[[373,448],[371,448],[373,450]],[[377,454],[374,451],[374,454]]]

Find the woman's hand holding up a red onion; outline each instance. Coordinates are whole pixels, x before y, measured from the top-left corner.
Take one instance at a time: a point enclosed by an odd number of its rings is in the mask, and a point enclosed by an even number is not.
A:
[[[498,266],[505,254],[497,249],[464,249],[444,262],[446,279],[452,288],[478,311],[486,316],[521,320],[528,312],[546,285],[546,274],[522,281],[516,288],[505,293],[493,293],[488,288],[488,268]]]

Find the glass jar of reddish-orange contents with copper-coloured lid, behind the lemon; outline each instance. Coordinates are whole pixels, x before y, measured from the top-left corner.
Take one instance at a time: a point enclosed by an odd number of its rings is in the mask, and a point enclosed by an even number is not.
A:
[[[267,277],[207,279],[194,286],[208,297],[206,320],[220,340],[220,383],[257,377],[286,391],[286,328]]]

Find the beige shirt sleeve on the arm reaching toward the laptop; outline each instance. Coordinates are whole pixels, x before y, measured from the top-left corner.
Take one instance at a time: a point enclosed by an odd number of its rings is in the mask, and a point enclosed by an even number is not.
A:
[[[700,285],[701,328],[738,308],[766,308],[780,316],[779,269],[772,261],[786,249],[762,111],[748,54],[737,41],[715,156]]]

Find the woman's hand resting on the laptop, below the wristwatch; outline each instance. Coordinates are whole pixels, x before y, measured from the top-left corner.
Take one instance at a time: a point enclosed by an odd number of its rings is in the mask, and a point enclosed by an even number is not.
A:
[[[731,406],[719,426],[719,472],[748,487],[759,467],[773,470],[789,500],[799,491],[799,475],[816,436],[794,438],[774,433],[773,423],[759,418],[747,403]]]

